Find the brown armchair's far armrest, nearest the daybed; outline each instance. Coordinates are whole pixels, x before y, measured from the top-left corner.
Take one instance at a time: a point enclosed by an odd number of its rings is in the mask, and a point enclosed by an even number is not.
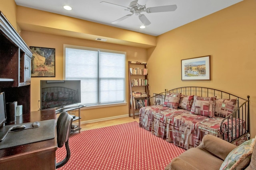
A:
[[[197,148],[225,160],[228,154],[236,147],[236,145],[213,135],[204,135],[201,144]]]

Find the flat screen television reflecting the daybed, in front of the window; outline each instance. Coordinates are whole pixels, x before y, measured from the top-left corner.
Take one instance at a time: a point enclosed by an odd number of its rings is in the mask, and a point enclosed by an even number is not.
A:
[[[40,108],[62,108],[81,103],[80,80],[41,80]]]

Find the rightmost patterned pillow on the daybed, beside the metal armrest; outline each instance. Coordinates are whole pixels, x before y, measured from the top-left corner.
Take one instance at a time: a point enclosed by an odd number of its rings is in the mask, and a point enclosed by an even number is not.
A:
[[[236,99],[217,99],[215,104],[215,116],[227,117],[234,111]]]

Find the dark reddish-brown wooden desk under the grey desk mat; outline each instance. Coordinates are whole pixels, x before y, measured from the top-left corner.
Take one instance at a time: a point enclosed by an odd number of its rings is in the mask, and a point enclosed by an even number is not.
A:
[[[32,111],[16,117],[16,124],[56,119],[55,110]],[[0,150],[1,170],[55,170],[55,138]],[[0,144],[1,145],[1,144]]]

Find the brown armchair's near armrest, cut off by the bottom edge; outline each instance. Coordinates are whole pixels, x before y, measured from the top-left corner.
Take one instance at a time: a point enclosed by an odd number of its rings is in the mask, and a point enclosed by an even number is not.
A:
[[[170,167],[168,167],[170,165]],[[183,159],[176,157],[164,170],[198,170]]]

